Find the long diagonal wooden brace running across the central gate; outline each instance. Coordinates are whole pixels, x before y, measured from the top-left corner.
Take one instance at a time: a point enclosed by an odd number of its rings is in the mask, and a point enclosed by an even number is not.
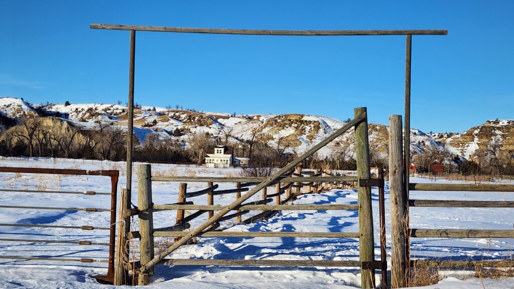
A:
[[[199,233],[203,232],[209,226],[211,226],[212,224],[217,222],[217,220],[219,218],[227,215],[231,210],[233,210],[234,208],[240,206],[244,201],[248,200],[250,197],[255,195],[261,189],[263,189],[264,187],[267,187],[271,183],[275,182],[279,177],[281,177],[283,174],[288,172],[289,169],[291,169],[291,168],[295,167],[296,165],[298,165],[299,163],[303,162],[303,160],[305,160],[306,158],[308,158],[311,155],[313,155],[316,151],[318,151],[319,149],[324,147],[326,144],[328,144],[329,142],[332,142],[334,139],[336,139],[337,137],[341,136],[341,134],[346,132],[348,129],[352,128],[354,125],[358,125],[359,123],[361,123],[365,119],[366,119],[366,113],[363,112],[358,117],[356,117],[354,120],[346,123],[346,125],[344,125],[340,129],[338,129],[337,131],[332,133],[329,137],[327,137],[326,139],[322,140],[321,142],[319,142],[314,147],[312,147],[309,150],[307,150],[306,152],[304,152],[303,155],[299,156],[295,160],[293,160],[290,163],[288,163],[285,167],[283,167],[280,170],[278,170],[272,176],[266,178],[262,183],[260,183],[259,185],[256,185],[255,187],[253,187],[249,192],[247,192],[245,195],[241,196],[241,198],[238,198],[237,200],[232,202],[230,205],[226,206],[226,208],[224,208],[223,210],[219,211],[219,213],[217,213],[214,217],[208,219],[205,223],[199,225],[197,228],[192,230],[187,236],[183,237],[182,239],[180,239],[177,242],[175,242],[173,245],[171,245],[168,248],[166,248],[157,257],[154,257],[151,261],[146,262],[146,263],[145,262],[141,262],[140,272],[144,273],[144,272],[150,271],[154,267],[154,265],[157,264],[160,260],[164,259],[166,256],[171,254],[173,251],[175,251],[181,245],[187,243],[189,240],[191,240],[191,238],[193,238],[196,235],[198,235]]]

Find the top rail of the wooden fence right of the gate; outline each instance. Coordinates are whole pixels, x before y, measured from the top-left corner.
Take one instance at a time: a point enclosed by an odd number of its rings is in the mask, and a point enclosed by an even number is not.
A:
[[[410,183],[409,190],[434,191],[514,191],[514,185],[507,184],[417,184]]]

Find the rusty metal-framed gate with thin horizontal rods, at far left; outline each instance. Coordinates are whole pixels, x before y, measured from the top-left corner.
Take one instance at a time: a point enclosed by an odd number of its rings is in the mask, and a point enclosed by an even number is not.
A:
[[[52,257],[27,257],[27,256],[0,256],[0,259],[12,259],[12,260],[38,260],[38,261],[59,261],[59,262],[81,262],[81,263],[108,263],[107,275],[95,276],[99,281],[113,283],[114,279],[114,253],[115,253],[115,242],[116,242],[116,195],[118,186],[118,170],[84,170],[84,169],[58,169],[58,168],[27,168],[27,167],[0,167],[0,172],[4,173],[16,173],[16,174],[50,174],[50,175],[77,175],[77,176],[105,176],[111,179],[111,191],[110,192],[97,192],[97,191],[62,191],[62,190],[45,190],[45,189],[13,189],[13,188],[0,188],[3,192],[16,192],[20,194],[72,194],[72,195],[83,195],[87,197],[96,196],[111,196],[111,208],[77,208],[77,207],[41,207],[41,206],[11,206],[11,205],[0,205],[0,208],[8,209],[34,209],[34,210],[80,210],[86,211],[91,214],[98,212],[109,212],[110,221],[109,224],[104,226],[93,224],[77,224],[76,226],[60,226],[60,225],[40,225],[40,224],[13,224],[13,223],[0,223],[0,226],[10,227],[32,227],[32,228],[60,228],[67,230],[108,230],[109,231],[109,242],[91,242],[88,240],[82,241],[65,241],[57,239],[45,239],[45,240],[34,240],[34,239],[0,239],[1,242],[29,242],[29,243],[53,243],[53,244],[74,244],[79,246],[109,246],[108,259],[93,259],[93,258],[52,258]],[[58,202],[58,201],[56,201]],[[56,236],[58,237],[58,236]]]

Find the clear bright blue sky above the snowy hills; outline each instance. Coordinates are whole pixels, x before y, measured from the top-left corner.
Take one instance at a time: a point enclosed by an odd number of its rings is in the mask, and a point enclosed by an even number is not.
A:
[[[460,132],[514,118],[511,1],[5,1],[0,97],[126,102],[128,31],[90,23],[247,29],[448,29],[413,36],[412,124]],[[135,101],[369,120],[403,114],[405,36],[136,33]]]

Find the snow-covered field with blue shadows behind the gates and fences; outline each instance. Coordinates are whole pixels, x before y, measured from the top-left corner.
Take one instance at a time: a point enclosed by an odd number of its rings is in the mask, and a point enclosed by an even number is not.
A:
[[[119,169],[118,191],[125,186],[124,163],[65,159],[10,160],[0,158],[0,166]],[[137,164],[135,165],[137,167]],[[153,165],[153,175],[170,176],[238,176],[240,169],[189,168],[175,165]],[[159,171],[159,172],[157,172]],[[136,174],[133,188],[137,188]],[[411,178],[411,182],[433,182]],[[448,182],[437,180],[438,183]],[[461,182],[462,183],[462,182]],[[219,184],[234,188],[233,184]],[[188,190],[205,188],[205,183],[189,183]],[[46,189],[109,192],[108,177],[51,176],[0,173],[2,189]],[[178,183],[154,182],[153,201],[173,203],[177,200]],[[378,190],[373,188],[374,221],[378,224]],[[215,204],[228,204],[233,195],[215,196]],[[251,200],[260,198],[260,194]],[[511,192],[430,192],[412,191],[412,199],[496,200],[514,201]],[[190,199],[188,199],[190,200]],[[206,196],[192,199],[195,204],[206,204]],[[137,204],[134,194],[132,202]],[[296,204],[356,204],[357,192],[334,189],[319,195],[304,195]],[[1,192],[0,205],[47,207],[109,208],[109,196],[57,195],[24,192]],[[243,216],[260,211],[251,211]],[[474,228],[512,229],[512,208],[411,208],[413,228]],[[187,215],[188,213],[186,213]],[[154,227],[175,223],[175,211],[154,214]],[[109,226],[109,213],[90,213],[78,210],[33,210],[0,208],[0,223],[81,226]],[[193,227],[203,218],[197,218]],[[274,217],[250,225],[222,222],[230,231],[262,232],[357,232],[355,211],[284,211]],[[390,251],[389,187],[386,183],[386,220],[388,252]],[[375,226],[375,253],[379,258],[378,225]],[[62,228],[32,228],[0,226],[2,239],[65,240],[107,243],[108,230],[80,230]],[[412,256],[440,257],[467,260],[511,257],[513,239],[412,239]],[[300,259],[300,260],[358,260],[358,240],[320,238],[201,238],[195,245],[182,246],[171,258],[215,259]],[[36,242],[0,241],[0,256],[32,256],[54,258],[94,258],[106,260],[108,247],[102,245],[44,244]],[[74,263],[59,261],[21,261],[0,259],[0,288],[111,288],[99,284],[91,276],[106,273],[106,263]],[[513,288],[514,278],[483,280],[469,277],[472,272],[442,272],[444,280],[427,288]],[[377,280],[380,280],[377,275]],[[290,267],[216,267],[216,266],[157,266],[153,284],[148,288],[355,288],[360,285],[358,268],[290,268]]]

